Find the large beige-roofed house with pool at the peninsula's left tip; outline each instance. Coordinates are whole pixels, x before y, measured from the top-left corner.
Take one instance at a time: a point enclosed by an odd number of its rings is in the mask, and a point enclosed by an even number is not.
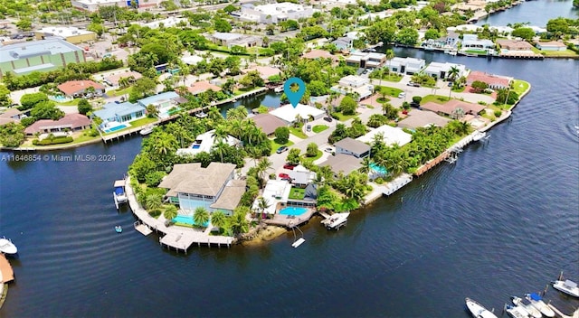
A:
[[[175,164],[158,185],[167,189],[166,198],[179,205],[180,213],[193,215],[198,207],[232,215],[245,192],[245,182],[234,180],[235,164]]]

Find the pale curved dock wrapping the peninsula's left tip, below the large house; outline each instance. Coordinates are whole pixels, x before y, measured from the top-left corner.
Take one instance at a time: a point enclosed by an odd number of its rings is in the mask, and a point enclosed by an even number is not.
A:
[[[159,239],[159,244],[163,247],[169,249],[175,249],[177,252],[183,251],[187,254],[187,249],[192,245],[197,244],[197,246],[217,246],[220,247],[227,246],[228,248],[233,244],[235,239],[233,237],[224,237],[219,235],[210,235],[211,228],[207,228],[204,231],[200,229],[192,229],[178,226],[166,226],[165,220],[155,219],[151,217],[147,210],[143,209],[138,205],[137,198],[135,197],[135,192],[130,186],[130,178],[127,178],[127,185],[125,187],[128,197],[128,205],[133,211],[133,214],[137,217],[138,221],[135,222],[135,229],[139,227],[146,227],[148,230],[156,231],[162,237]],[[139,223],[139,224],[137,224]],[[139,230],[139,232],[144,235],[147,232],[146,229]]]

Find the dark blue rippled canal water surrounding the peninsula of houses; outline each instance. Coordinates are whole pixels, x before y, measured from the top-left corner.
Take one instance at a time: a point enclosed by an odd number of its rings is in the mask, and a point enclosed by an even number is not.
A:
[[[509,295],[542,291],[561,270],[578,281],[579,62],[396,55],[533,89],[487,144],[356,210],[337,232],[311,220],[297,249],[288,232],[179,255],[134,231],[130,211],[114,208],[112,183],[140,137],[50,153],[106,162],[0,162],[0,235],[20,250],[0,316],[468,317],[467,296],[500,315]],[[552,288],[546,298],[565,312],[579,306]]]

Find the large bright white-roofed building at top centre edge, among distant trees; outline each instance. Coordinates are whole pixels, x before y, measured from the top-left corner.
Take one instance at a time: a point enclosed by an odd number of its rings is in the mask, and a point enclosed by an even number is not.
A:
[[[242,5],[240,19],[258,23],[280,23],[287,20],[308,18],[314,14],[312,6],[282,2],[268,5]]]

